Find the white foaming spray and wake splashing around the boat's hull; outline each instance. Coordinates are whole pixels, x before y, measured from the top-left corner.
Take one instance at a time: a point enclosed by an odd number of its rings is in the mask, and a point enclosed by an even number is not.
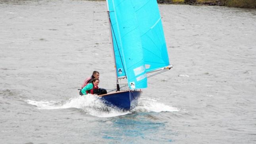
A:
[[[70,98],[66,102],[55,101],[34,101],[27,100],[28,104],[37,106],[38,109],[65,109],[65,108],[77,108],[83,109],[85,113],[96,117],[116,117],[120,115],[126,115],[137,111],[142,112],[161,112],[161,111],[179,111],[178,108],[167,106],[154,100],[152,98],[139,99],[139,104],[135,109],[131,111],[123,111],[117,108],[106,106],[98,96],[87,94],[86,96],[77,96]]]

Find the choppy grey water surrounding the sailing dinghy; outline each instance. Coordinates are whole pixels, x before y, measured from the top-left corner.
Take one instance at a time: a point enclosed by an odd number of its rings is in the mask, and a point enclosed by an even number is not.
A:
[[[105,2],[0,1],[0,143],[256,143],[256,10],[159,5],[171,71],[139,106],[77,88],[115,87]]]

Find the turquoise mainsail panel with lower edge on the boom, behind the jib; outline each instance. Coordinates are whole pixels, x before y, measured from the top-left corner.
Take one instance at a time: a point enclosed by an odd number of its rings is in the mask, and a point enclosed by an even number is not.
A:
[[[156,0],[132,0],[139,24],[146,72],[167,67],[169,58]]]

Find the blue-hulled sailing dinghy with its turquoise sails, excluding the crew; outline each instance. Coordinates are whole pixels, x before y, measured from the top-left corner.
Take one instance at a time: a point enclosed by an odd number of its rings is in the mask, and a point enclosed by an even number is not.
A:
[[[106,0],[117,91],[100,95],[107,105],[133,109],[147,78],[171,69],[156,0]],[[155,72],[147,76],[148,73]],[[129,90],[120,91],[119,79]]]

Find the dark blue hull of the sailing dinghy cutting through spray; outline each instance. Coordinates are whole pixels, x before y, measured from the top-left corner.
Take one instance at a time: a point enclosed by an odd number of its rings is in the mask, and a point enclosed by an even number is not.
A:
[[[138,104],[142,91],[122,91],[100,95],[108,106],[114,106],[123,110],[134,109]]]

